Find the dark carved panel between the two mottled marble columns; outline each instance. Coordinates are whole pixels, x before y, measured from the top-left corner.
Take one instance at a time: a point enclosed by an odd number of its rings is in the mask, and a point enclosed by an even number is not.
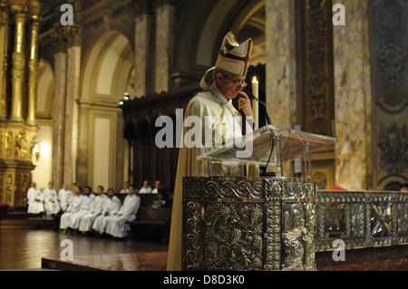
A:
[[[333,136],[334,64],[332,0],[297,1],[303,130]]]

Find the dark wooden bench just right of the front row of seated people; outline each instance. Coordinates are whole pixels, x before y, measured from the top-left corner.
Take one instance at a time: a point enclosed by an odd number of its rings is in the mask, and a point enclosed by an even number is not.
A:
[[[137,217],[127,222],[134,237],[160,236],[161,242],[167,242],[170,234],[170,207],[140,207]]]

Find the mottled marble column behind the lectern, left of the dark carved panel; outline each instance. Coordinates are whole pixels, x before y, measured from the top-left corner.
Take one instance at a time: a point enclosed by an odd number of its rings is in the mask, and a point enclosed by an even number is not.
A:
[[[272,124],[296,124],[295,0],[266,0],[267,111]],[[284,175],[291,175],[290,165]]]

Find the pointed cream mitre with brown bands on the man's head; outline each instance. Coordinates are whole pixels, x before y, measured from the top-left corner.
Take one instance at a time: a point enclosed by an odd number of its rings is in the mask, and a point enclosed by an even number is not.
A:
[[[231,74],[247,76],[252,45],[253,42],[250,38],[246,42],[239,44],[235,35],[228,32],[219,49],[216,65],[204,74],[199,86],[204,90],[208,90],[210,82],[212,82],[212,72],[216,68]]]

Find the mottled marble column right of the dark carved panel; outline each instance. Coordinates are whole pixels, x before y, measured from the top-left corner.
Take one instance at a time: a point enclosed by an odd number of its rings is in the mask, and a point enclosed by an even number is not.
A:
[[[367,189],[370,183],[372,100],[370,79],[369,0],[345,5],[345,26],[334,27],[335,183]]]

